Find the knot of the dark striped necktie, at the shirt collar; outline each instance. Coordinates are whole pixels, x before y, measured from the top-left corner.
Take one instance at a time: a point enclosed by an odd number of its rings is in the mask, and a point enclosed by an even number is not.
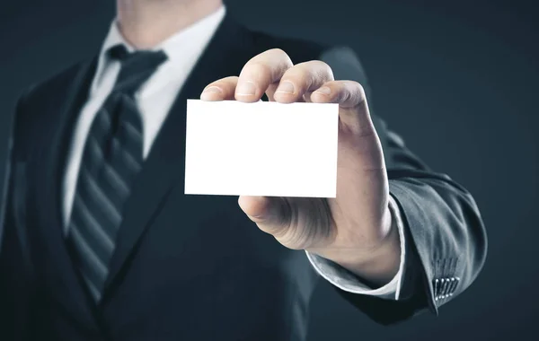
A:
[[[146,83],[155,70],[168,59],[163,50],[128,52],[124,45],[110,48],[109,55],[121,63],[114,91],[129,95],[132,95],[143,83]]]

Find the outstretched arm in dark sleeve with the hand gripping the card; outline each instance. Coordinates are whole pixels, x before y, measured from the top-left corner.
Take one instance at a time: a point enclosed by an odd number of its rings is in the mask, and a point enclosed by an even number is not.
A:
[[[272,48],[252,57],[238,77],[205,88],[219,92],[200,95],[203,101],[252,102],[266,93],[270,101],[284,103],[309,95],[314,103],[339,103],[337,196],[241,196],[238,204],[288,249],[331,259],[380,286],[398,274],[400,263],[401,240],[389,207],[393,197],[406,244],[400,300],[340,293],[380,323],[428,306],[437,311],[472,283],[484,262],[486,236],[477,206],[464,188],[428,170],[370,113],[368,91],[358,79],[361,68],[349,49],[331,49],[321,59],[325,63],[293,65],[284,50]]]

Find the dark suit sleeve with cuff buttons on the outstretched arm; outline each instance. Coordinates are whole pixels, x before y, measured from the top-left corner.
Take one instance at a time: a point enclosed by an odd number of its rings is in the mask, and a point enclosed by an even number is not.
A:
[[[321,59],[335,79],[361,83],[370,100],[367,77],[351,49],[331,48]],[[372,105],[370,109],[384,149],[390,195],[404,224],[401,294],[399,301],[390,301],[336,290],[371,319],[392,324],[423,310],[437,314],[472,284],[486,258],[487,236],[472,195],[447,175],[430,170],[373,114]]]

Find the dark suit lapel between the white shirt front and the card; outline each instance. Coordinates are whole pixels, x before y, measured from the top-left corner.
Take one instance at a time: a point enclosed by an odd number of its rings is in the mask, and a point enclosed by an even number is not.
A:
[[[122,269],[127,268],[130,256],[137,249],[137,242],[159,214],[172,188],[177,187],[177,190],[183,191],[181,179],[184,178],[185,169],[187,100],[199,98],[208,83],[239,74],[243,64],[252,57],[243,45],[245,38],[246,32],[226,16],[172,105],[126,204],[126,215],[110,262],[103,302],[107,301],[114,287],[119,284]],[[181,206],[185,205],[180,204],[178,209]],[[187,232],[188,229],[190,226],[181,226],[181,231]]]

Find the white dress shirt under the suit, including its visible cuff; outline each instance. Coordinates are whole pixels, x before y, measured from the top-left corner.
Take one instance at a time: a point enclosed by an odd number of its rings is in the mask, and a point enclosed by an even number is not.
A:
[[[154,143],[155,136],[159,133],[163,121],[172,107],[173,101],[176,99],[178,92],[181,91],[183,83],[185,83],[190,71],[202,55],[209,40],[214,35],[219,23],[224,17],[225,6],[222,6],[215,13],[174,34],[171,38],[154,48],[163,49],[168,56],[168,60],[155,71],[155,74],[148,79],[135,96],[138,109],[142,115],[144,134],[143,158],[146,159]],[[112,22],[109,34],[102,45],[96,73],[94,74],[93,83],[88,94],[88,100],[84,104],[75,125],[74,139],[67,158],[66,174],[63,182],[65,232],[67,232],[69,226],[68,222],[75,197],[75,186],[86,137],[89,134],[93,118],[112,91],[119,74],[119,61],[111,59],[106,54],[109,48],[117,44],[124,44],[129,51],[134,50],[122,37],[117,23]],[[402,235],[402,222],[400,220],[399,209],[393,197],[391,198],[390,207],[392,208],[393,218],[397,219],[399,226],[402,255],[399,272],[389,284],[372,290],[365,284],[361,284],[355,276],[343,271],[341,267],[336,266],[331,261],[307,252],[307,257],[318,274],[322,275],[331,284],[347,292],[376,295],[387,299],[398,300],[404,264],[404,238]]]

